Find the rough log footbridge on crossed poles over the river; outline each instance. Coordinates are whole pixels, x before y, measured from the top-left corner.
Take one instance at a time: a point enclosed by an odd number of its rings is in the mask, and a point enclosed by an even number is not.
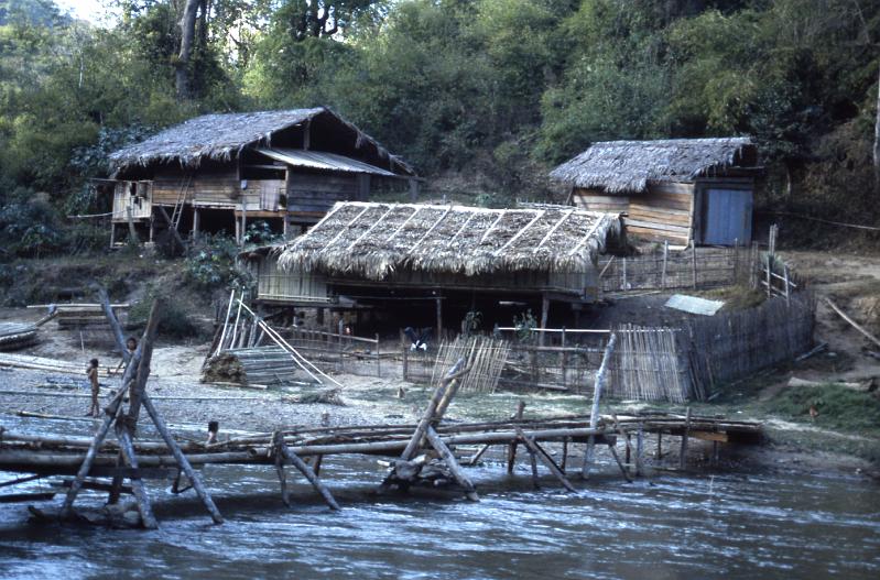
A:
[[[760,440],[759,424],[697,417],[692,416],[689,411],[686,415],[600,415],[598,407],[606,371],[605,362],[597,374],[590,414],[524,418],[524,405],[521,403],[514,415],[506,420],[444,422],[443,417],[456,394],[460,379],[469,370],[467,361],[459,359],[439,382],[416,424],[294,428],[239,436],[218,442],[180,442],[170,433],[145,391],[157,311],[159,308],[154,305],[140,347],[128,362],[122,387],[105,409],[105,419],[95,437],[39,436],[3,430],[0,427],[0,471],[31,474],[0,482],[0,488],[36,477],[74,475],[65,482],[68,490],[58,517],[75,518],[73,507],[79,491],[95,489],[109,492],[109,504],[117,503],[122,493],[132,494],[138,505],[139,523],[154,528],[157,523],[144,485],[146,479],[174,480],[174,492],[181,491],[182,481],[187,482],[186,489],[195,490],[214,522],[222,522],[222,516],[195,469],[205,464],[274,467],[285,503],[289,501],[285,467],[293,466],[332,508],[338,510],[338,503],[321,479],[322,461],[330,456],[370,455],[392,458],[387,462],[389,472],[381,482],[380,490],[447,488],[477,501],[477,490],[464,467],[477,464],[491,447],[501,447],[506,451],[509,472],[513,471],[518,448],[522,447],[535,482],[537,464],[542,463],[566,490],[574,492],[576,489],[569,477],[575,472],[583,479],[589,478],[597,445],[608,447],[623,478],[631,481],[630,460],[634,457],[634,474],[641,474],[644,440],[649,434],[656,436],[659,452],[663,435],[677,437],[681,467],[684,467],[687,457],[689,439],[713,441],[716,449],[718,444],[753,444]],[[613,346],[612,339],[606,351],[606,361],[610,358]],[[126,402],[128,409],[124,408]],[[141,407],[148,412],[161,440],[135,438]],[[115,439],[108,439],[111,428],[116,434]],[[624,444],[623,460],[617,452],[620,441]],[[569,466],[569,449],[580,444],[585,446],[582,461],[573,470]],[[562,453],[552,451],[551,445],[557,448],[561,446]],[[463,457],[465,447],[472,451]],[[102,478],[109,478],[109,481]],[[124,480],[129,481],[129,485],[123,485]]]

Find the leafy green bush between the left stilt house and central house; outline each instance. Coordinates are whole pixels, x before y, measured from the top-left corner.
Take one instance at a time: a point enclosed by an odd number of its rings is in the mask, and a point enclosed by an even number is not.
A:
[[[238,252],[239,248],[231,238],[205,236],[184,262],[186,281],[204,291],[249,287],[250,275],[236,265]]]

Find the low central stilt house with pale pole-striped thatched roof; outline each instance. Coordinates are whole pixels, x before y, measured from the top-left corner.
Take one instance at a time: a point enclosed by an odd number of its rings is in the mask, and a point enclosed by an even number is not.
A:
[[[250,259],[264,306],[368,309],[438,330],[480,311],[491,328],[496,315],[511,324],[504,308],[534,308],[546,322],[551,304],[571,314],[596,300],[597,256],[620,232],[617,215],[558,206],[350,201]]]

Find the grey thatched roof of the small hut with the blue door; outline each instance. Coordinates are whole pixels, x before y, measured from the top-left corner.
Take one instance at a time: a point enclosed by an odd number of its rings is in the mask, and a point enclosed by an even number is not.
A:
[[[754,164],[751,138],[667,139],[594,143],[550,173],[575,187],[609,194],[642,191],[649,180],[694,179],[730,166]]]

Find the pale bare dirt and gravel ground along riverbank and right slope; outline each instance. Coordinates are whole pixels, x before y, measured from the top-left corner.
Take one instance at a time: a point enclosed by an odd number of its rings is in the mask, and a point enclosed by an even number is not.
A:
[[[869,381],[880,377],[880,360],[867,354],[877,348],[841,320],[825,304],[825,297],[832,297],[836,304],[863,324],[871,331],[880,333],[880,256],[840,255],[826,252],[784,252],[783,256],[797,274],[805,280],[815,293],[817,320],[815,338],[817,342],[827,342],[826,352],[817,354],[802,363],[792,365],[784,373],[774,373],[762,387],[759,397],[769,397],[784,389],[789,389],[791,376],[812,381]],[[673,322],[681,314],[670,313],[663,308],[665,295],[644,295],[635,298],[619,298],[613,308],[600,309],[594,326],[607,325],[615,319],[632,317],[634,322]],[[36,309],[3,308],[0,320],[36,320],[42,316]],[[687,315],[684,315],[687,316]],[[110,342],[104,346],[84,344],[76,333],[62,331],[48,322],[41,329],[41,342],[24,354],[46,357],[82,364],[85,371],[86,361],[91,358],[101,359],[104,363],[118,361],[112,353]],[[199,382],[200,366],[207,353],[207,343],[200,341],[167,343],[161,338],[153,354],[152,374],[149,384],[156,406],[165,419],[182,431],[200,436],[208,420],[219,420],[221,433],[241,431],[265,433],[279,427],[295,425],[352,425],[366,423],[412,423],[428,397],[428,390],[423,386],[402,383],[399,379],[378,379],[355,375],[340,375],[343,383],[340,400],[343,405],[323,403],[300,403],[309,395],[307,389],[285,389],[258,391],[239,387],[218,387]],[[113,362],[115,364],[115,362]],[[69,376],[69,375],[68,375]],[[77,420],[89,422],[84,417],[88,408],[85,397],[44,396],[42,393],[66,393],[85,395],[85,372],[79,389],[46,389],[44,385],[59,375],[44,371],[0,370],[0,385],[4,391],[29,391],[29,395],[0,395],[0,424],[2,414],[14,414],[29,411],[47,415],[77,417]],[[69,380],[69,379],[67,379]],[[118,379],[105,381],[106,393],[117,386]],[[401,391],[402,387],[402,391]],[[193,397],[193,400],[166,400],[163,397]],[[226,397],[217,400],[217,397]],[[563,413],[584,413],[587,402],[582,395],[546,394],[546,393],[498,393],[492,395],[461,394],[450,408],[449,419],[492,419],[510,415],[518,400],[528,403],[526,416],[552,415]],[[626,406],[631,407],[631,403]],[[725,407],[729,412],[735,407]],[[710,411],[710,406],[702,412]],[[604,409],[608,411],[608,409]],[[734,411],[736,413],[736,411]],[[737,415],[737,418],[746,418]],[[772,417],[752,417],[767,419],[768,427],[774,430],[800,433],[816,431],[810,424],[784,422]],[[58,425],[63,425],[59,423]],[[830,433],[828,437],[858,437]],[[784,466],[785,468],[803,467],[804,469],[843,469],[846,471],[872,472],[866,461],[840,453],[822,453],[798,450],[785,445],[771,445],[760,450],[749,450],[750,461],[761,466]]]

